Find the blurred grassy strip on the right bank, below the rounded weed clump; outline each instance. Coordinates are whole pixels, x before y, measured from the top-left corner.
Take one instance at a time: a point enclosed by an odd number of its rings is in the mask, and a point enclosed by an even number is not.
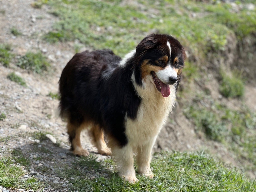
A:
[[[201,102],[212,102],[209,100],[209,97],[198,98],[185,110],[196,132],[204,132],[209,139],[226,145],[236,154],[245,170],[256,170],[256,114],[246,106],[233,110],[218,102],[211,103],[209,107],[201,105]],[[249,162],[252,166],[247,167]]]

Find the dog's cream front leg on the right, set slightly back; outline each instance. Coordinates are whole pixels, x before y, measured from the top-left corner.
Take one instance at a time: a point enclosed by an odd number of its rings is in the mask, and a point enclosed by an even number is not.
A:
[[[150,162],[151,162],[151,152],[152,152],[152,148],[155,143],[155,140],[156,138],[152,138],[147,144],[143,145],[141,148],[138,148],[137,156],[136,156],[138,172],[149,178],[154,177],[154,174],[150,168]]]

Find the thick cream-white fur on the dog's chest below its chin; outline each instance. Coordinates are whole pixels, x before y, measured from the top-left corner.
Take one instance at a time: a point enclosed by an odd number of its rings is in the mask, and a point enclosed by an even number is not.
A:
[[[135,89],[142,98],[142,102],[136,119],[126,118],[125,123],[128,142],[134,148],[143,146],[158,135],[173,109],[176,98],[176,85],[170,86],[171,94],[167,98],[164,98],[156,90],[155,84],[152,82],[145,82],[144,88],[135,86]]]

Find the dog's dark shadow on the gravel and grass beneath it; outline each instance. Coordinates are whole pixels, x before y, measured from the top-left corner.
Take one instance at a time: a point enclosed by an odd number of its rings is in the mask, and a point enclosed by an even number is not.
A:
[[[16,147],[11,155],[16,164],[25,167],[24,175],[36,178],[45,188],[72,189],[84,180],[94,182],[99,177],[116,175],[110,156],[96,152],[88,157],[75,156],[67,147],[48,139]]]

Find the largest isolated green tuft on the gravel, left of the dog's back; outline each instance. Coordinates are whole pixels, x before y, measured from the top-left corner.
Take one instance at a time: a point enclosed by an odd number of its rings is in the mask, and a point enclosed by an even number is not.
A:
[[[25,56],[18,60],[17,66],[41,74],[49,69],[50,63],[41,52],[27,52]]]

